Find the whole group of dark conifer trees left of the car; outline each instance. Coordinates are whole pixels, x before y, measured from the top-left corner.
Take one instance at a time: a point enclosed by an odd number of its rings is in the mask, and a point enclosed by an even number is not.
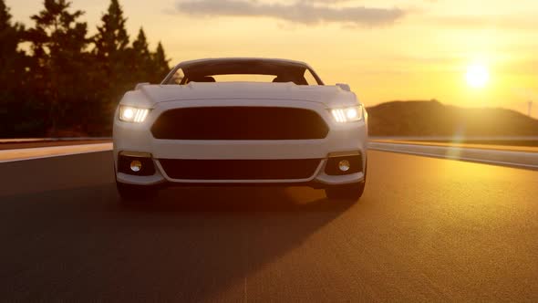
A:
[[[168,73],[162,45],[150,52],[141,28],[129,46],[118,0],[94,37],[70,6],[45,0],[25,29],[0,0],[0,136],[109,135],[122,94]]]

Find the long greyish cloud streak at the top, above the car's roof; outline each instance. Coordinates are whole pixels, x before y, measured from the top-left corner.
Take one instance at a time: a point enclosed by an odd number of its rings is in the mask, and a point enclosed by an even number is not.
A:
[[[389,25],[406,15],[397,7],[336,7],[347,0],[301,0],[293,4],[257,0],[181,0],[180,13],[194,16],[267,16],[302,24],[346,23],[360,26]]]

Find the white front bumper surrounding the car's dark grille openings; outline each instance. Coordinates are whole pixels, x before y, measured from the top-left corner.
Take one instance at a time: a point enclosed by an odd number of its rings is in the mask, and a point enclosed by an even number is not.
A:
[[[290,107],[288,103],[279,104],[278,101],[270,100],[274,106]],[[196,106],[200,106],[200,101]],[[203,106],[204,104],[202,104]],[[214,105],[214,101],[208,102],[207,106]],[[228,102],[226,105],[235,106],[236,103]],[[242,104],[240,104],[242,105]],[[366,168],[367,162],[367,125],[364,120],[338,124],[332,119],[328,110],[319,103],[295,101],[294,106],[315,110],[329,127],[329,132],[324,139],[320,140],[285,140],[285,141],[186,141],[186,140],[159,140],[155,139],[150,132],[153,122],[165,110],[178,107],[194,106],[186,101],[165,102],[152,110],[148,120],[141,124],[114,121],[114,161],[116,164],[116,178],[120,183],[137,185],[309,185],[312,187],[326,187],[337,184],[357,183],[365,179],[365,173],[353,172],[342,175],[326,173],[326,165],[332,157],[361,156],[362,168]],[[140,155],[150,158],[155,171],[151,175],[135,175],[118,172],[120,154]],[[175,179],[167,174],[163,168],[163,159],[177,160],[305,160],[318,159],[316,170],[308,177],[299,179]],[[253,167],[255,169],[255,167]]]

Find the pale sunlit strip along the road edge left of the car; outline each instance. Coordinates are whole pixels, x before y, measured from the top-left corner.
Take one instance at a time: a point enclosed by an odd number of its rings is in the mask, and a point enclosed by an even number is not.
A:
[[[112,151],[112,143],[48,146],[0,151],[0,163],[68,156],[73,154]]]

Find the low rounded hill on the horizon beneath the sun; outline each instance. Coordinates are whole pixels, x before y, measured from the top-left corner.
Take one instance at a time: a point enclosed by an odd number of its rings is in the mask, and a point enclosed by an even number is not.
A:
[[[538,136],[538,120],[514,110],[467,109],[431,101],[367,108],[372,136]]]

